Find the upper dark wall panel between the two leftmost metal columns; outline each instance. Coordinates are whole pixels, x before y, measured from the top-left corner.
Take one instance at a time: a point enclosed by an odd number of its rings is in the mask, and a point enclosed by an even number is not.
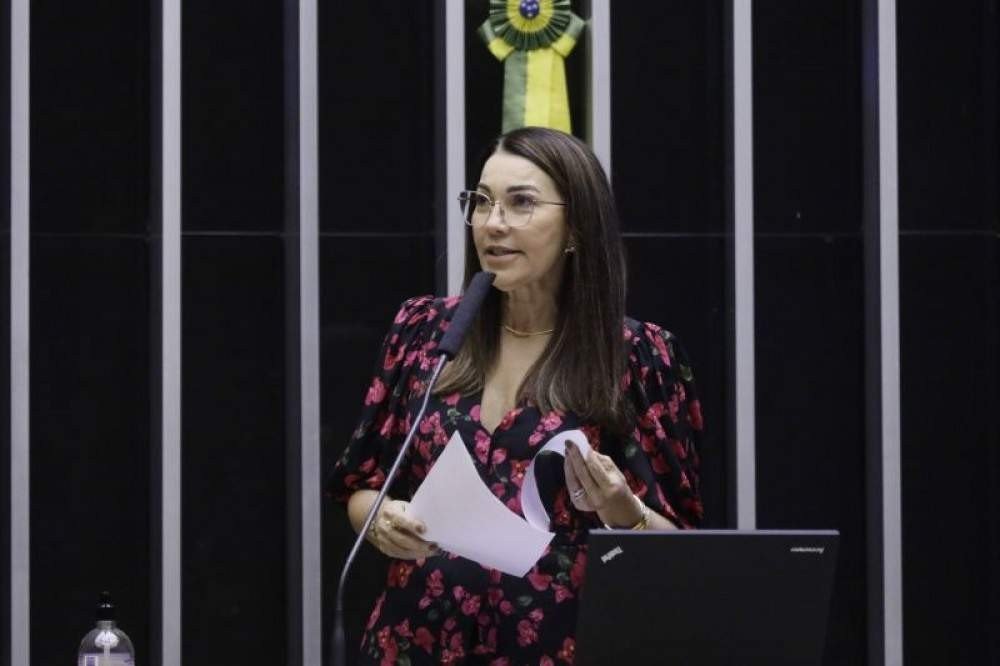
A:
[[[145,231],[149,7],[31,3],[33,232]]]

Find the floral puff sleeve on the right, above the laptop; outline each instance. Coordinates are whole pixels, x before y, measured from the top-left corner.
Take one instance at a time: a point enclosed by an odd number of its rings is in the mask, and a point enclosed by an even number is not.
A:
[[[647,506],[678,527],[697,527],[701,404],[680,342],[655,324],[629,322],[625,394],[634,429],[624,442],[625,478]]]

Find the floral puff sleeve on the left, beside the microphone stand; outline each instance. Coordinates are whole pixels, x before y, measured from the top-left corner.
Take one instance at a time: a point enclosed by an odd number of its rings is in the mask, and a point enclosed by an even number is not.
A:
[[[326,481],[327,495],[346,501],[357,490],[377,490],[410,428],[409,395],[422,381],[437,344],[440,309],[431,296],[400,307],[382,343],[357,428]],[[405,462],[404,462],[405,464]],[[401,476],[404,473],[401,468]],[[397,479],[398,481],[398,479]]]

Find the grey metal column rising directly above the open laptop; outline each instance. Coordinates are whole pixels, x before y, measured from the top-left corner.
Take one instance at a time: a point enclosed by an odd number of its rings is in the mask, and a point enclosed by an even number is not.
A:
[[[732,0],[728,62],[730,97],[729,279],[730,512],[736,527],[757,526],[756,384],[754,361],[753,14],[751,0]]]

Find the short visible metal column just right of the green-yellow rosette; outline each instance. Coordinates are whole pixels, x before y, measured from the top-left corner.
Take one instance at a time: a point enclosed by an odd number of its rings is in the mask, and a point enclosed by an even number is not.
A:
[[[611,0],[591,0],[587,141],[611,178]]]

